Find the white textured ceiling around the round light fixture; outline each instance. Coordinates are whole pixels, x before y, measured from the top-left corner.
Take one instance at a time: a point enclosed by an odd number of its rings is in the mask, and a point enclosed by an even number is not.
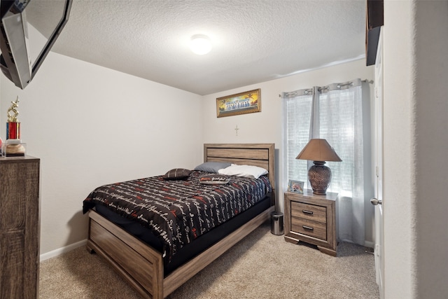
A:
[[[74,0],[52,51],[208,95],[362,57],[365,1]]]

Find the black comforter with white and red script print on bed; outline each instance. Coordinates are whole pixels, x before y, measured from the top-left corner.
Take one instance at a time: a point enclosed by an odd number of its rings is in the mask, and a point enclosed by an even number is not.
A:
[[[96,188],[83,202],[83,213],[102,204],[150,228],[170,260],[176,251],[212,228],[252,207],[271,191],[267,176],[229,176],[225,185],[204,185],[193,171],[185,180],[153,176]]]

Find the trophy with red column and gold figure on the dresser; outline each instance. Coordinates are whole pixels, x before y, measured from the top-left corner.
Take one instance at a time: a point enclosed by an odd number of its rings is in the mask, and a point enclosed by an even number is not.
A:
[[[3,155],[6,157],[25,156],[25,144],[20,139],[20,122],[18,120],[19,97],[11,102],[8,109],[8,123],[6,123],[6,142],[3,145]]]

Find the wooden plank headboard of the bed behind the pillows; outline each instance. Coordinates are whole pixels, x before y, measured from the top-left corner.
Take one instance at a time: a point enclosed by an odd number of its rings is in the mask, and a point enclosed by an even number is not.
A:
[[[275,144],[204,144],[204,162],[232,162],[263,167],[275,196]]]

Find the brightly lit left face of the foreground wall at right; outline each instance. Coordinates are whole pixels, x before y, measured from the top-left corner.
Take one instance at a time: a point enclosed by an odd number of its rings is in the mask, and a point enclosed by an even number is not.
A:
[[[412,298],[414,183],[414,57],[409,1],[384,4],[384,292]],[[430,298],[430,297],[428,297]]]

